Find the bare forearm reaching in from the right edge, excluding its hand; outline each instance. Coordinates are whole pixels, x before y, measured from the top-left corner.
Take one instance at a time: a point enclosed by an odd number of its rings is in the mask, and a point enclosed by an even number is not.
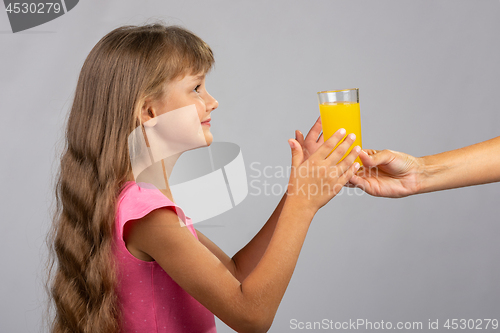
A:
[[[500,137],[424,156],[418,193],[500,181]]]

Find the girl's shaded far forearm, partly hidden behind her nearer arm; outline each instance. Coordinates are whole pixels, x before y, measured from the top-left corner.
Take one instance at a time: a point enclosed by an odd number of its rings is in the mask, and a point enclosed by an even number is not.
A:
[[[245,245],[233,256],[232,259],[236,269],[236,278],[239,281],[243,281],[248,274],[253,271],[264,255],[264,252],[269,245],[269,241],[273,236],[276,223],[280,217],[281,211],[283,210],[286,198],[287,194],[285,192],[271,217],[267,220],[260,231],[247,245]]]

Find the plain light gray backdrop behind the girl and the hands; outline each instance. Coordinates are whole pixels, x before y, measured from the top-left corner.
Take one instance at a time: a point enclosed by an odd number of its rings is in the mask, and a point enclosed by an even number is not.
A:
[[[320,90],[360,89],[365,148],[423,156],[499,135],[498,0],[82,0],[17,34],[2,9],[0,332],[42,325],[52,178],[81,65],[113,28],[155,19],[213,48],[212,133],[240,145],[249,180],[251,163],[289,166],[287,140],[318,117]],[[229,255],[260,229],[287,183],[256,179],[280,194],[249,194],[196,226]],[[293,331],[294,318],[424,327],[500,319],[500,184],[404,199],[358,194],[342,192],[314,218],[271,332]]]

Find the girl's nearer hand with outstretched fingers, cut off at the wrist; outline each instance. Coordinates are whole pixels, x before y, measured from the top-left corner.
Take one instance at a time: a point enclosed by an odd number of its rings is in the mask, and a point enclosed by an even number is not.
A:
[[[356,146],[339,163],[356,138],[354,134],[349,134],[334,150],[345,133],[343,128],[338,130],[307,160],[304,160],[302,146],[296,140],[288,141],[292,147],[292,170],[287,188],[287,201],[294,200],[296,205],[316,213],[340,192],[358,170],[359,163],[353,164],[353,162],[361,150]]]

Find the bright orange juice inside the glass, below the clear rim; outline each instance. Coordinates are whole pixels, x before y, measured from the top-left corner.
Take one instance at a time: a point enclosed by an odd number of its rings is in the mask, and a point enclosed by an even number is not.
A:
[[[343,160],[353,147],[361,146],[361,116],[359,112],[359,103],[355,102],[332,102],[319,105],[319,113],[321,115],[321,124],[323,126],[323,137],[328,140],[333,133],[341,128],[345,128],[346,135],[349,133],[356,134],[356,140],[347,153],[342,157]],[[345,138],[344,137],[344,138]],[[339,143],[340,144],[340,143]],[[337,145],[338,146],[338,145]],[[337,147],[335,147],[337,148]],[[360,165],[361,160],[356,158],[356,162]]]

